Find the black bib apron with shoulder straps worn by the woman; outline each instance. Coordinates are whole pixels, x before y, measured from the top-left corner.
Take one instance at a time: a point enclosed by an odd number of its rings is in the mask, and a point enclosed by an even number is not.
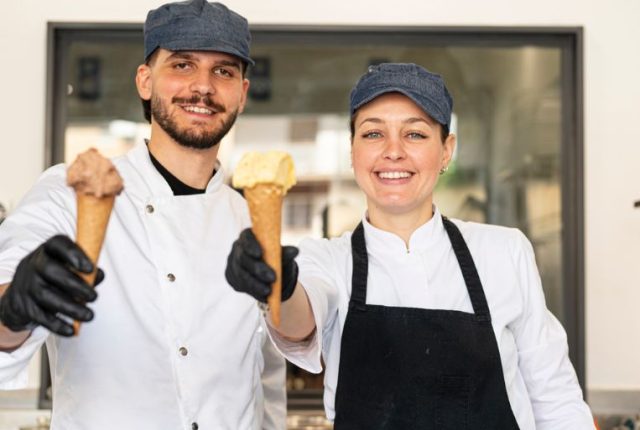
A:
[[[518,429],[480,277],[460,230],[442,219],[474,313],[366,304],[362,223],[353,232],[335,430]]]

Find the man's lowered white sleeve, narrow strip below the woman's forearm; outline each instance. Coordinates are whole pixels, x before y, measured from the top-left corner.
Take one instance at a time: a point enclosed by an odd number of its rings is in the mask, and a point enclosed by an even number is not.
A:
[[[262,346],[262,356],[262,429],[284,430],[287,427],[286,363],[268,339],[265,339]]]

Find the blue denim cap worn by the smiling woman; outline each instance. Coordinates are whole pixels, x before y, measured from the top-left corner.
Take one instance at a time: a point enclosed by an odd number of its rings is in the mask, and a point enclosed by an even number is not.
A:
[[[440,124],[451,129],[453,99],[440,75],[416,64],[383,63],[370,66],[351,90],[350,113],[386,93],[398,92],[413,100]]]

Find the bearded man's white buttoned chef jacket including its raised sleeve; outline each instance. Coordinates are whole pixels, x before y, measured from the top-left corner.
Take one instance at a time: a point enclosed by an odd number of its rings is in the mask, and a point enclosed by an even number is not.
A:
[[[244,200],[220,166],[204,194],[174,196],[145,145],[114,164],[125,188],[98,262],[105,279],[94,320],[73,338],[37,328],[0,353],[0,388],[24,383],[46,341],[54,430],[284,429],[284,360],[255,300],[224,277],[231,245],[250,225]],[[0,226],[0,284],[49,237],[75,237],[65,176],[63,165],[48,169]]]

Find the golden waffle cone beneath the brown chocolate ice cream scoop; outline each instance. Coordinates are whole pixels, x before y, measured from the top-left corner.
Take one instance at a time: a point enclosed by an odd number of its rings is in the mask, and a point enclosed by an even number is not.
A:
[[[95,197],[90,194],[77,194],[78,230],[76,232],[76,243],[94,264],[93,272],[79,273],[79,275],[91,286],[93,286],[96,279],[98,257],[107,232],[107,224],[109,223],[114,200],[115,195]],[[80,322],[74,321],[73,328],[77,335],[80,330]]]

